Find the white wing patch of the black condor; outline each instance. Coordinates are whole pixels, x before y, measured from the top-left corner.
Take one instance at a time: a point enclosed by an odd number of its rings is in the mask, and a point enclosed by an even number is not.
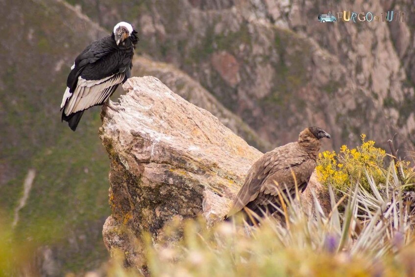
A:
[[[103,103],[114,92],[117,85],[121,84],[124,78],[124,73],[100,80],[85,80],[79,76],[73,96],[71,94],[72,97],[70,96],[71,98],[65,105],[65,114],[70,115]],[[67,90],[69,92],[69,88]]]

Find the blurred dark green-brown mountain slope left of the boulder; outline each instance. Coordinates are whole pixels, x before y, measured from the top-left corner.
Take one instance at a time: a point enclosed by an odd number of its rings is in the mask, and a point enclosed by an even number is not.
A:
[[[101,229],[109,213],[109,165],[98,140],[99,108],[73,133],[59,105],[76,54],[107,32],[63,1],[0,3],[0,210],[7,222],[35,177],[14,228],[18,241],[51,250],[46,275],[95,268],[108,256]],[[41,259],[39,259],[41,260]]]

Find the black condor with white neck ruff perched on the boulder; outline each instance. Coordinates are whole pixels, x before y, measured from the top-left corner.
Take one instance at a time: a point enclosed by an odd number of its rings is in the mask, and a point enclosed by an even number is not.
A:
[[[120,22],[110,36],[94,41],[76,57],[61,104],[62,121],[73,131],[86,109],[107,100],[110,104],[118,85],[130,77],[138,40],[133,27]]]

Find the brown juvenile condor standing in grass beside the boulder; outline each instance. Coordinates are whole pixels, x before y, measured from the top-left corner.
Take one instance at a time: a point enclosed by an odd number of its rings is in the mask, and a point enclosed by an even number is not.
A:
[[[330,135],[319,127],[308,127],[300,133],[297,142],[277,147],[259,158],[249,169],[225,220],[229,221],[241,212],[252,226],[258,221],[252,215],[248,216],[249,210],[260,217],[275,212],[275,206],[281,205],[275,182],[279,184],[280,193],[294,197],[293,174],[298,191],[303,192],[316,167],[321,138],[330,138]]]

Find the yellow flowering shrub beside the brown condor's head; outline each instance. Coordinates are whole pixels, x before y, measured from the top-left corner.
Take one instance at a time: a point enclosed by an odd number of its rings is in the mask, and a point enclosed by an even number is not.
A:
[[[318,155],[317,178],[322,184],[330,184],[344,192],[352,183],[360,182],[370,191],[365,169],[373,176],[376,184],[385,182],[385,150],[375,147],[372,140],[366,141],[365,134],[361,137],[361,146],[349,149],[343,145],[339,153],[325,151]]]

